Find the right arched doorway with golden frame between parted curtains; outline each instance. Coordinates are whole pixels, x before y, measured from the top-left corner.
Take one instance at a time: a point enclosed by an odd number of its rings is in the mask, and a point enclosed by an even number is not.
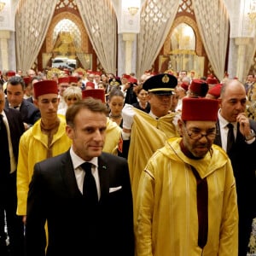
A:
[[[159,56],[159,72],[193,70],[195,77],[200,78],[207,75],[207,66],[207,55],[195,20],[186,15],[177,16]]]

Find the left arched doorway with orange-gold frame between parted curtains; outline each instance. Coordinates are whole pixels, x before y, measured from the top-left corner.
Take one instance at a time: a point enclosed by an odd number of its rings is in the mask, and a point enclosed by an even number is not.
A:
[[[90,38],[79,11],[74,1],[72,2],[73,8],[70,3],[65,5],[63,1],[60,1],[62,4],[56,5],[53,19],[38,55],[38,70],[52,67],[52,61],[55,58],[58,58],[56,62],[64,60],[65,65],[68,60],[70,67],[76,63],[75,67],[96,68],[96,53],[90,44]]]

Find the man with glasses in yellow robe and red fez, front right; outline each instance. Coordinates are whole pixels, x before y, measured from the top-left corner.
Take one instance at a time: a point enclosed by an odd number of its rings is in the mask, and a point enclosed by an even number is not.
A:
[[[236,183],[213,144],[218,101],[184,98],[178,129],[148,160],[135,206],[137,256],[237,255]]]

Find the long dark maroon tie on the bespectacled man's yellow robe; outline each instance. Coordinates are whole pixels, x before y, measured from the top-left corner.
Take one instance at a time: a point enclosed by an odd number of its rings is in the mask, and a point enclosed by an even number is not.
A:
[[[191,169],[196,178],[196,201],[198,215],[198,246],[207,244],[208,236],[208,184],[207,178],[201,178],[193,166]]]

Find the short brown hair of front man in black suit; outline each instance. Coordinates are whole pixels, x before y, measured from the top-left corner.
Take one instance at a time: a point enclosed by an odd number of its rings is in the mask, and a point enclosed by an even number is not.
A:
[[[81,109],[88,109],[95,113],[108,114],[108,108],[101,100],[88,97],[80,102],[74,103],[72,106],[67,108],[66,122],[67,125],[74,127],[74,119]]]

